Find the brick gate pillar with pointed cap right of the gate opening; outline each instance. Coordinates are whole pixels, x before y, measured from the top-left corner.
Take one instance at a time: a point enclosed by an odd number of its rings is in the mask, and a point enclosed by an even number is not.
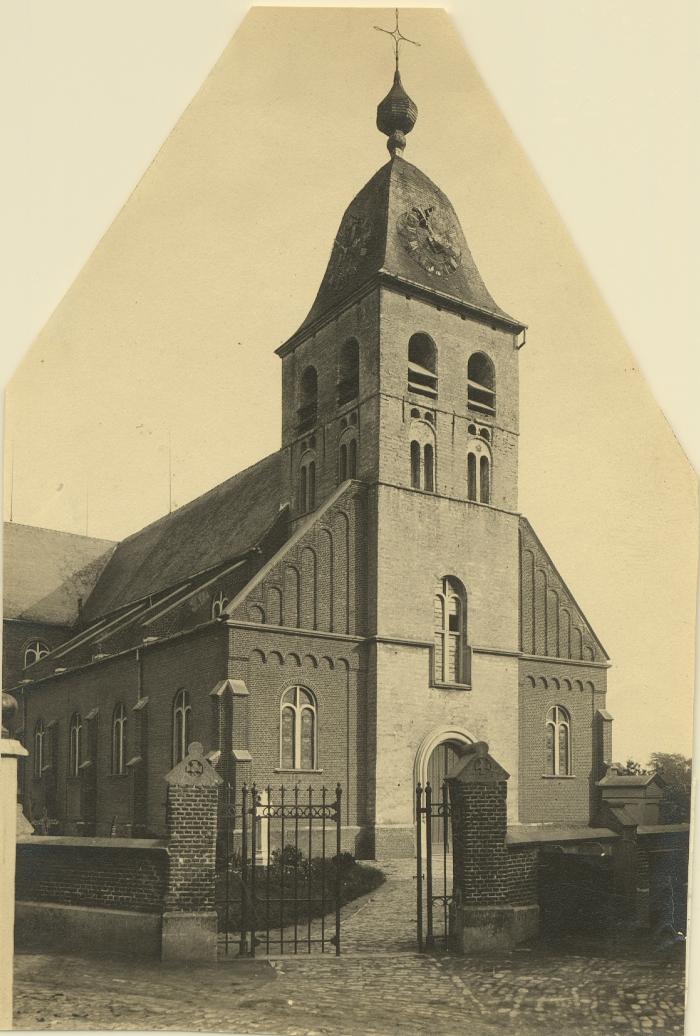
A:
[[[485,742],[470,745],[447,776],[454,901],[449,941],[459,953],[507,950],[536,934],[536,850],[506,844],[509,774]]]

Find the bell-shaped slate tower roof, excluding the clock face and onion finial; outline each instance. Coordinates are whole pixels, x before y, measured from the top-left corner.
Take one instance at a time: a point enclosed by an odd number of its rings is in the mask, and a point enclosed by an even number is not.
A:
[[[405,213],[414,206],[422,210],[434,206],[438,213],[444,215],[462,256],[457,269],[442,276],[431,274],[410,255],[402,239],[400,224]],[[357,234],[360,237],[359,248],[353,251],[351,242]],[[343,277],[342,267],[348,262],[348,255],[356,265],[351,276]],[[449,199],[425,173],[398,155],[375,173],[346,209],[316,300],[293,338],[379,272],[449,296],[514,327],[525,326],[509,317],[489,293]]]

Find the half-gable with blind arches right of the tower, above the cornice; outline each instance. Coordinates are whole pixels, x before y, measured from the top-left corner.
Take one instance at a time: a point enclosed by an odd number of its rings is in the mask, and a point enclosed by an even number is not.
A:
[[[607,662],[608,654],[526,518],[520,519],[520,650]]]

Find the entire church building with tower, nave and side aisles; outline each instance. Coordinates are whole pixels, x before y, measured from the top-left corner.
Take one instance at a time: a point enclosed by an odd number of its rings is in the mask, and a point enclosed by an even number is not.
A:
[[[414,852],[418,782],[471,742],[511,824],[585,826],[611,760],[608,656],[518,510],[525,324],[404,157],[348,206],[278,348],[282,444],[120,543],[5,526],[4,686],[51,833],[158,836],[204,745],[245,782],[343,788],[344,847]]]

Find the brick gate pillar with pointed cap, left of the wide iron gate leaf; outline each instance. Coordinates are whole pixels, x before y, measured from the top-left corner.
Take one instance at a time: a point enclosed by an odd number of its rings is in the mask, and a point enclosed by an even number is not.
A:
[[[164,960],[216,957],[216,817],[222,779],[199,742],[169,774]]]

